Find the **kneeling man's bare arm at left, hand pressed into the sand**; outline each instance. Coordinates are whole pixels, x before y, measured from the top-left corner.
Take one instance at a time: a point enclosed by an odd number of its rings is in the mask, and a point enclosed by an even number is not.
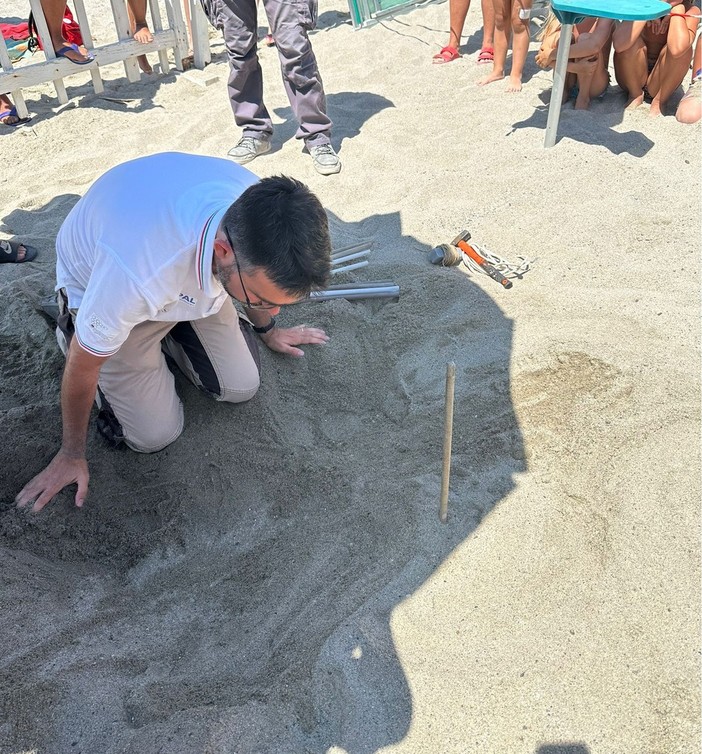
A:
[[[88,421],[104,362],[104,358],[83,350],[73,338],[61,382],[61,448],[49,465],[17,495],[15,502],[20,507],[34,503],[32,512],[40,511],[69,484],[78,485],[75,501],[79,508],[82,507],[89,480],[85,459]]]

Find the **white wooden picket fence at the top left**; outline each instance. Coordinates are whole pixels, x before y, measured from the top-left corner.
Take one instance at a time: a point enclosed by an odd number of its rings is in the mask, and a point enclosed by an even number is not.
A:
[[[56,57],[56,52],[51,46],[51,37],[41,8],[41,0],[29,0],[37,25],[37,31],[44,43],[44,56],[46,60],[15,67],[10,60],[5,41],[0,37],[0,65],[2,66],[2,73],[0,73],[0,94],[7,94],[9,92],[17,108],[17,114],[20,118],[27,118],[29,112],[22,90],[44,84],[48,81],[53,81],[59,103],[65,104],[68,102],[68,95],[63,82],[64,78],[83,71],[89,71],[93,89],[97,94],[100,94],[103,91],[100,66],[124,61],[124,69],[129,81],[138,81],[141,75],[136,61],[138,55],[158,52],[161,70],[165,73],[169,69],[167,51],[173,50],[175,67],[177,70],[182,71],[183,58],[188,53],[189,45],[188,25],[183,20],[180,5],[181,0],[162,1],[166,9],[167,26],[164,28],[158,0],[149,0],[149,11],[151,14],[149,28],[154,39],[147,44],[141,44],[132,38],[125,0],[110,0],[118,41],[94,47],[83,0],[72,0],[84,44],[95,56],[94,62],[89,65],[77,66],[65,58]],[[185,2],[188,3],[186,9],[189,11],[188,20],[192,32],[193,62],[196,68],[204,68],[210,62],[207,19],[198,0],[185,0]]]

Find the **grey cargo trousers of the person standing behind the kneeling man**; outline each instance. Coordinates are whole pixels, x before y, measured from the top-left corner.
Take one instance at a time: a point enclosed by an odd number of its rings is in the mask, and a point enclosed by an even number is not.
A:
[[[308,32],[317,22],[317,0],[262,0],[280,57],[283,84],[299,128],[310,146],[330,143],[322,78]],[[229,98],[244,136],[268,139],[273,123],[263,104],[257,55],[257,0],[202,0],[210,23],[224,34],[229,55]]]

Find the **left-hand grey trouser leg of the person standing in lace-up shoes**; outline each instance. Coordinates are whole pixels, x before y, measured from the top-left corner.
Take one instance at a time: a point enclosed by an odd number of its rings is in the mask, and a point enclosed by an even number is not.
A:
[[[256,0],[202,0],[202,6],[224,35],[234,120],[245,137],[268,141],[273,123],[263,104],[263,73],[256,55]]]

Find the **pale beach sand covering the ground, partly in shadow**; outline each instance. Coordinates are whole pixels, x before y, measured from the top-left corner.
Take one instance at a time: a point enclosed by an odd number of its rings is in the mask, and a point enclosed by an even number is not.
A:
[[[700,126],[624,114],[612,87],[544,150],[536,45],[521,94],[478,88],[478,6],[468,56],[435,66],[447,4],[355,32],[322,2],[338,176],[301,152],[261,51],[276,133],[252,170],[305,181],[335,247],[373,241],[347,279],[400,298],[284,313],[331,341],[265,352],[249,404],[179,380],[186,429],[161,453],[91,429],[81,511],[12,502],[60,441],[38,313],[55,235],[111,166],[236,142],[222,43],[211,86],[115,65],[120,103],[79,72],[71,106],[28,90],[29,126],[0,130],[0,236],[40,249],[0,267],[2,754],[700,751]],[[106,1],[89,12],[109,41]],[[464,228],[532,270],[506,291],[430,266]]]

